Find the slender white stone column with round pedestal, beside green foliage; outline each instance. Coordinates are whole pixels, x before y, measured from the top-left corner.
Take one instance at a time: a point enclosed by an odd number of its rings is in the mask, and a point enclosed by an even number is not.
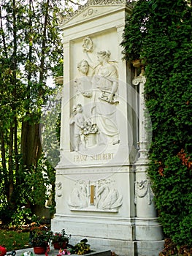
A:
[[[159,252],[163,245],[164,239],[161,225],[158,224],[157,213],[153,203],[153,192],[150,188],[150,180],[147,178],[147,148],[150,143],[150,138],[147,135],[146,113],[145,113],[145,99],[144,99],[144,85],[146,82],[145,69],[141,67],[141,74],[134,78],[132,83],[139,86],[139,158],[135,163],[135,204],[136,204],[136,240],[138,250],[142,250],[142,246],[151,246],[155,241],[159,243]],[[145,241],[145,242],[144,242]],[[158,248],[158,244],[157,244]],[[151,255],[151,254],[149,254]]]

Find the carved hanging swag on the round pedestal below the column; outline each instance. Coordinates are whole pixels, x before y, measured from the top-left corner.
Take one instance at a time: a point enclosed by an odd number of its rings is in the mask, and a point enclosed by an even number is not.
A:
[[[137,204],[137,197],[147,197],[148,205],[150,205],[153,201],[153,192],[150,188],[150,181],[147,179],[144,181],[135,181],[135,199],[134,203]]]

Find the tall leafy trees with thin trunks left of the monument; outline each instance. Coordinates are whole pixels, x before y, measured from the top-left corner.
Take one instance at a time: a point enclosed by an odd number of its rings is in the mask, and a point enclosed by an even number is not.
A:
[[[61,0],[0,4],[0,219],[7,207],[15,211],[39,198],[43,203],[46,181],[54,189],[55,170],[40,159],[40,118],[55,91],[47,78],[62,59],[58,12],[69,10],[68,1]]]

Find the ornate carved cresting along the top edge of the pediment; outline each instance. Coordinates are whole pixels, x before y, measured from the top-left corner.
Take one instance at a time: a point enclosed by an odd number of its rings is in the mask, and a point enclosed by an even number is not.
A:
[[[88,0],[86,4],[80,5],[75,12],[68,13],[66,16],[60,15],[60,24],[66,23],[66,21],[79,15],[80,12],[91,6],[107,6],[107,5],[125,5],[126,7],[133,7],[133,0]]]

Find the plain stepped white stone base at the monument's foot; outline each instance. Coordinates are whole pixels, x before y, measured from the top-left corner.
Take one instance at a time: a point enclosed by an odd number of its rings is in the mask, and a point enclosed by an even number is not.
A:
[[[138,230],[147,228],[149,233],[151,233],[151,230],[149,223],[146,227],[137,227],[135,218],[69,217],[55,214],[51,226],[53,231],[64,228],[66,233],[72,234],[69,244],[74,245],[83,238],[87,238],[91,249],[96,252],[110,250],[118,256],[158,256],[158,253],[164,248],[164,240],[136,240]],[[159,226],[153,224],[151,228],[158,231]],[[161,237],[161,233],[159,237]],[[142,238],[146,239],[147,237]]]

